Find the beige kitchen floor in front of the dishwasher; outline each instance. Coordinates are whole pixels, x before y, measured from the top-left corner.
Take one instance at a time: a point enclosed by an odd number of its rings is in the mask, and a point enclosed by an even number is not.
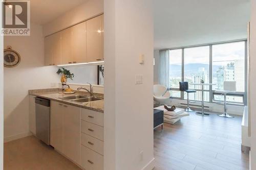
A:
[[[34,136],[4,144],[4,170],[81,170]]]

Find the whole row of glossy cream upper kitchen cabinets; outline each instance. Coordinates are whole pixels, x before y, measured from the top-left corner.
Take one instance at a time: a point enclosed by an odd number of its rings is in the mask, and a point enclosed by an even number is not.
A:
[[[45,38],[45,65],[103,61],[103,15]]]

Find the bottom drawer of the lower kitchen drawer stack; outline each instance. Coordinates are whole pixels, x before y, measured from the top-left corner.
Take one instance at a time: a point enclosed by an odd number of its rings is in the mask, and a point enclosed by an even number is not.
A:
[[[81,165],[86,170],[103,170],[103,156],[81,145]]]

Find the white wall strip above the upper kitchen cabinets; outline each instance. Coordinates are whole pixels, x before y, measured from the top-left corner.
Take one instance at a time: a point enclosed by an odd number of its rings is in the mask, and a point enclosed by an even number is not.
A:
[[[103,0],[89,0],[77,8],[61,15],[44,25],[44,35],[50,35],[62,29],[75,25],[83,20],[103,13]]]

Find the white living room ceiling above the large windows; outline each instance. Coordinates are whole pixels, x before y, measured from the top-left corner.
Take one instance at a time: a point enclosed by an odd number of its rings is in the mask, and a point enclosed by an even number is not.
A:
[[[247,37],[249,0],[154,1],[155,49]]]

